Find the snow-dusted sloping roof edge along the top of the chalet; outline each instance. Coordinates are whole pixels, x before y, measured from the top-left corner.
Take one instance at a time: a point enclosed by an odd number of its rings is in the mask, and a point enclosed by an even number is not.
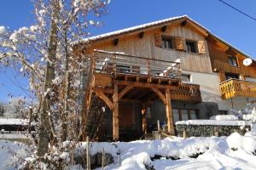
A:
[[[171,17],[171,18],[168,18],[168,19],[165,19],[165,20],[157,20],[157,21],[150,22],[150,23],[143,24],[143,25],[139,25],[139,26],[132,26],[132,27],[125,28],[125,29],[122,29],[122,30],[118,30],[118,31],[111,31],[111,32],[104,33],[104,34],[101,34],[101,35],[98,35],[98,36],[94,36],[94,37],[87,37],[87,38],[84,38],[82,40],[82,42],[85,42],[85,43],[95,42],[95,41],[99,41],[99,40],[102,40],[102,39],[107,39],[107,38],[110,38],[110,37],[120,36],[120,35],[125,34],[125,33],[131,33],[131,32],[134,32],[134,31],[140,31],[140,30],[144,30],[144,29],[147,29],[147,28],[162,26],[162,25],[165,25],[166,23],[170,23],[172,21],[182,20],[182,19],[191,21],[192,23],[195,24],[195,26],[201,27],[201,29],[206,31],[207,34],[209,34],[212,37],[218,39],[218,41],[223,42],[224,44],[226,44],[227,46],[229,46],[231,48],[234,48],[237,52],[245,55],[246,57],[253,59],[252,56],[250,56],[248,54],[245,54],[239,48],[236,48],[235,46],[231,45],[229,42],[226,42],[222,38],[212,34],[212,32],[209,31],[206,27],[201,26],[201,24],[199,24],[195,20],[192,20],[191,18],[189,18],[188,15],[175,16],[175,17]],[[80,41],[79,42],[74,42],[73,44],[76,44],[76,43],[80,43]],[[253,61],[255,61],[255,59],[253,59]]]

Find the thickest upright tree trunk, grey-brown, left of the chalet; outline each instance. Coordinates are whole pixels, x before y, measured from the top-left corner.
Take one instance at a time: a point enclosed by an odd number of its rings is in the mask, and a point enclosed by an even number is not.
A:
[[[47,92],[48,89],[52,89],[53,84],[52,80],[55,78],[55,58],[56,58],[56,49],[58,43],[58,29],[57,21],[59,19],[59,3],[55,2],[55,7],[51,20],[51,27],[49,32],[49,48],[48,48],[48,58],[49,61],[46,65],[45,70],[45,82],[44,82],[44,92]],[[38,133],[38,156],[44,156],[48,152],[49,144],[49,133],[52,129],[49,123],[49,106],[50,99],[49,95],[44,96],[42,102],[42,110],[40,111],[40,127]]]

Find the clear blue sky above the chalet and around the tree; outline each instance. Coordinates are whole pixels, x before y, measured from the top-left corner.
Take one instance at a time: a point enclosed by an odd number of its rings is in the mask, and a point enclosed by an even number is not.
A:
[[[256,17],[255,0],[224,1]],[[91,29],[91,34],[97,35],[183,14],[188,14],[213,34],[256,59],[256,21],[239,14],[218,0],[112,0],[108,6],[108,14],[99,19],[103,21],[104,26]],[[1,0],[0,26],[18,29],[32,23],[30,0]],[[24,95],[19,86],[26,87],[26,81],[15,76],[13,71],[0,68],[0,100],[8,100],[8,94]]]

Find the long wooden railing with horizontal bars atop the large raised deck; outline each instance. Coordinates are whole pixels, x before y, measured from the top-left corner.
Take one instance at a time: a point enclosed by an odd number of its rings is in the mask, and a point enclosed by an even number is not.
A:
[[[180,78],[180,63],[134,55],[94,50],[95,72],[135,74],[147,77]]]

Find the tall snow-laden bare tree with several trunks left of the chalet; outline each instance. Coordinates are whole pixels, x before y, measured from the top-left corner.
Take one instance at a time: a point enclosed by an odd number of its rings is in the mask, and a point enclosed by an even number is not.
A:
[[[34,0],[37,22],[9,31],[0,26],[0,63],[15,67],[29,78],[38,99],[38,156],[66,139],[78,139],[79,77],[84,71],[73,42],[87,37],[89,14],[102,15],[108,0]],[[94,17],[95,18],[95,17]],[[68,130],[67,130],[68,127]]]

